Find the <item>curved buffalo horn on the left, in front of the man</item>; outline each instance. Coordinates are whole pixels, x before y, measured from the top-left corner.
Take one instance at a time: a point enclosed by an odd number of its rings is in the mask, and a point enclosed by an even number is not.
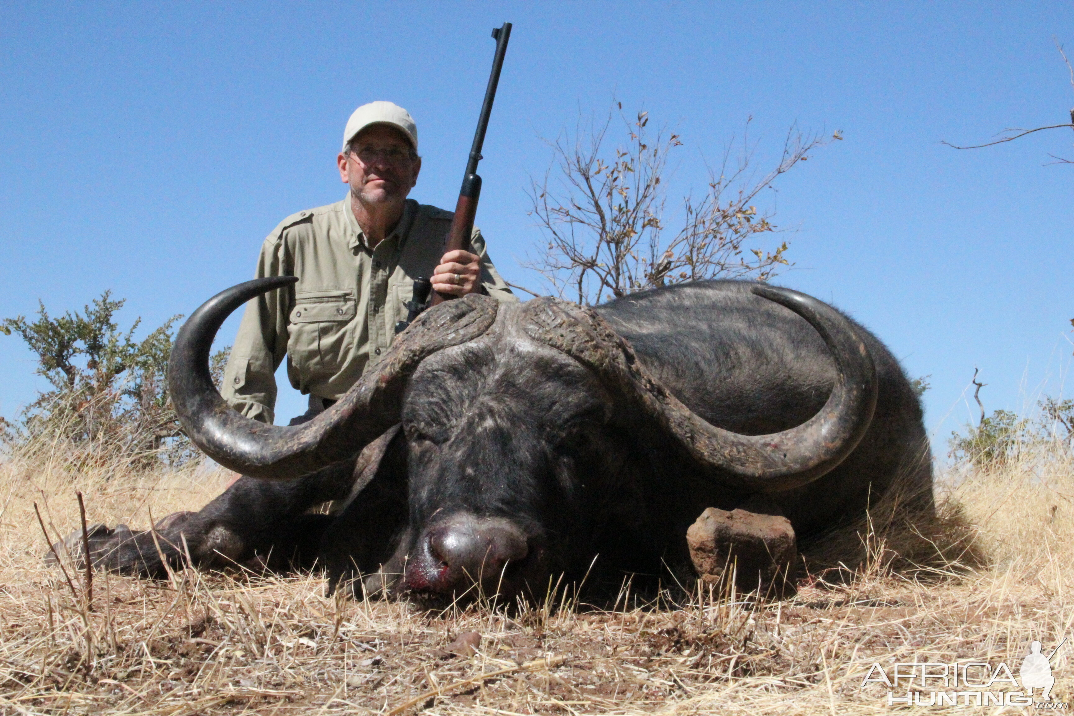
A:
[[[187,320],[172,349],[169,390],[184,430],[223,467],[256,478],[296,478],[352,457],[398,422],[406,381],[422,360],[480,336],[496,318],[496,302],[481,295],[431,308],[395,337],[383,359],[334,406],[295,427],[265,425],[232,410],[220,397],[209,376],[209,350],[232,311],[296,280],[259,278],[218,293]]]

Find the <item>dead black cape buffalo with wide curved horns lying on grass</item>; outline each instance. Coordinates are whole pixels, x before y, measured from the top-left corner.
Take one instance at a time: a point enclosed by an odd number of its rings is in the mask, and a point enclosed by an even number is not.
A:
[[[686,529],[710,507],[783,515],[808,536],[900,478],[931,499],[897,361],[796,291],[700,281],[594,309],[468,295],[421,315],[329,410],[276,427],[224,404],[208,354],[229,313],[293,280],[218,294],[172,353],[187,434],[245,477],[151,531],[95,526],[95,564],[160,574],[186,556],[260,555],[319,561],[330,589],[516,595],[597,555],[626,572],[688,564]],[[346,507],[309,513],[325,500]]]

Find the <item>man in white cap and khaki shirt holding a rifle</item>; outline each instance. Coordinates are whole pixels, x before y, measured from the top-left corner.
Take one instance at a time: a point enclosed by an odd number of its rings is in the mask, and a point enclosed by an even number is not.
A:
[[[419,276],[444,294],[518,301],[477,229],[474,252],[444,253],[452,214],[407,199],[421,157],[406,109],[360,106],[336,161],[350,191],[342,202],[289,216],[264,240],[257,277],[299,282],[247,305],[224,370],[224,399],[265,423],[274,419],[274,374],[285,355],[291,384],[309,394],[309,410],[295,424],[339,399],[387,353]]]

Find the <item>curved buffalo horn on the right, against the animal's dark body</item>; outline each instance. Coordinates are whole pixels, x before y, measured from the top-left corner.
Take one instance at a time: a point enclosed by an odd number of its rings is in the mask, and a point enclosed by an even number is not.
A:
[[[596,371],[627,403],[630,414],[655,420],[714,479],[734,487],[780,492],[808,484],[857,447],[876,407],[872,355],[851,322],[816,298],[757,286],[753,293],[798,313],[824,338],[838,379],[818,413],[771,435],[740,435],[710,424],[652,377],[624,338],[594,311],[551,298],[528,302],[527,333]]]

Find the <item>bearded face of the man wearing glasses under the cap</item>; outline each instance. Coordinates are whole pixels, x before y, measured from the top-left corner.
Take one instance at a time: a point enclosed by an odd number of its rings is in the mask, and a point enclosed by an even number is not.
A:
[[[337,158],[339,178],[363,204],[402,204],[421,171],[421,159],[411,159],[412,154],[397,129],[366,127],[351,142],[351,151]]]

